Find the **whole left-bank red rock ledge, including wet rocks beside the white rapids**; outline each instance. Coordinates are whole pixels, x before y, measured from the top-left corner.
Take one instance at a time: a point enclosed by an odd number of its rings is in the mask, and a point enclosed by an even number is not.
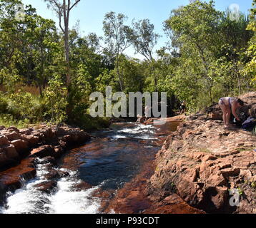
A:
[[[36,175],[36,165],[40,162],[47,163],[49,175],[36,187],[44,192],[53,190],[56,179],[68,175],[54,169],[56,158],[67,147],[87,142],[89,138],[83,130],[69,126],[41,125],[38,129],[20,130],[0,126],[0,205],[4,203],[6,192],[14,192],[22,186],[23,180]]]

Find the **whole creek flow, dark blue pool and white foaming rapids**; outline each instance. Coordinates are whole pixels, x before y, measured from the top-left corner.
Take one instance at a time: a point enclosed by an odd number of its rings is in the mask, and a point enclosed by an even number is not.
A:
[[[19,190],[8,192],[0,213],[99,213],[102,199],[94,192],[114,194],[152,161],[159,150],[157,130],[152,125],[117,123],[97,131],[95,138],[67,152],[54,167],[69,172],[69,176],[57,180],[50,193],[35,187],[45,182],[49,172],[49,164],[39,160],[36,177],[23,181]]]

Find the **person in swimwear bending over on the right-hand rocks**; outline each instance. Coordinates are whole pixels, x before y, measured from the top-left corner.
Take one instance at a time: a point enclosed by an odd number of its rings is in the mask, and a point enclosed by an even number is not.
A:
[[[240,99],[230,98],[230,97],[220,98],[219,106],[223,113],[222,118],[223,118],[223,123],[225,125],[225,128],[227,128],[227,125],[230,125],[229,123],[230,123],[231,113],[235,116],[237,121],[241,121],[236,113],[236,110],[237,108],[242,107],[243,105],[244,105],[244,102]]]

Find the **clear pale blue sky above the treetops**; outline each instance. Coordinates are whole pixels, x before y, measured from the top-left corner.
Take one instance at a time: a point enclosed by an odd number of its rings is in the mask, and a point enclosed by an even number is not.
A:
[[[51,9],[47,9],[44,0],[22,0],[22,2],[25,5],[31,4],[40,16],[57,22],[56,15]],[[172,9],[187,4],[189,4],[189,0],[81,0],[78,6],[72,9],[70,27],[72,28],[79,20],[81,35],[97,33],[97,36],[104,36],[102,21],[104,15],[109,11],[128,16],[127,24],[131,24],[132,19],[136,21],[149,19],[150,23],[154,24],[155,32],[162,36],[155,47],[155,49],[159,49],[167,42],[163,31],[163,22],[169,18]],[[246,14],[252,8],[252,0],[215,0],[215,8],[220,11],[225,11],[232,4],[237,4],[240,11]],[[129,56],[134,56],[132,48],[129,48],[126,53]],[[139,55],[135,57],[142,58]]]

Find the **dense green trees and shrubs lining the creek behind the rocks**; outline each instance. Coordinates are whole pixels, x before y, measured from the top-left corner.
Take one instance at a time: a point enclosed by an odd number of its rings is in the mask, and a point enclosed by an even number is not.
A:
[[[167,92],[172,108],[184,100],[190,112],[256,86],[256,0],[250,17],[235,20],[214,1],[174,9],[164,21],[172,46],[157,51],[159,34],[149,19],[129,26],[127,16],[112,11],[104,16],[104,37],[81,36],[64,14],[79,1],[46,2],[59,16],[57,26],[19,0],[0,1],[0,123],[107,126],[108,118],[88,114],[90,93],[107,86],[113,93]],[[129,46],[144,60],[126,56]]]

